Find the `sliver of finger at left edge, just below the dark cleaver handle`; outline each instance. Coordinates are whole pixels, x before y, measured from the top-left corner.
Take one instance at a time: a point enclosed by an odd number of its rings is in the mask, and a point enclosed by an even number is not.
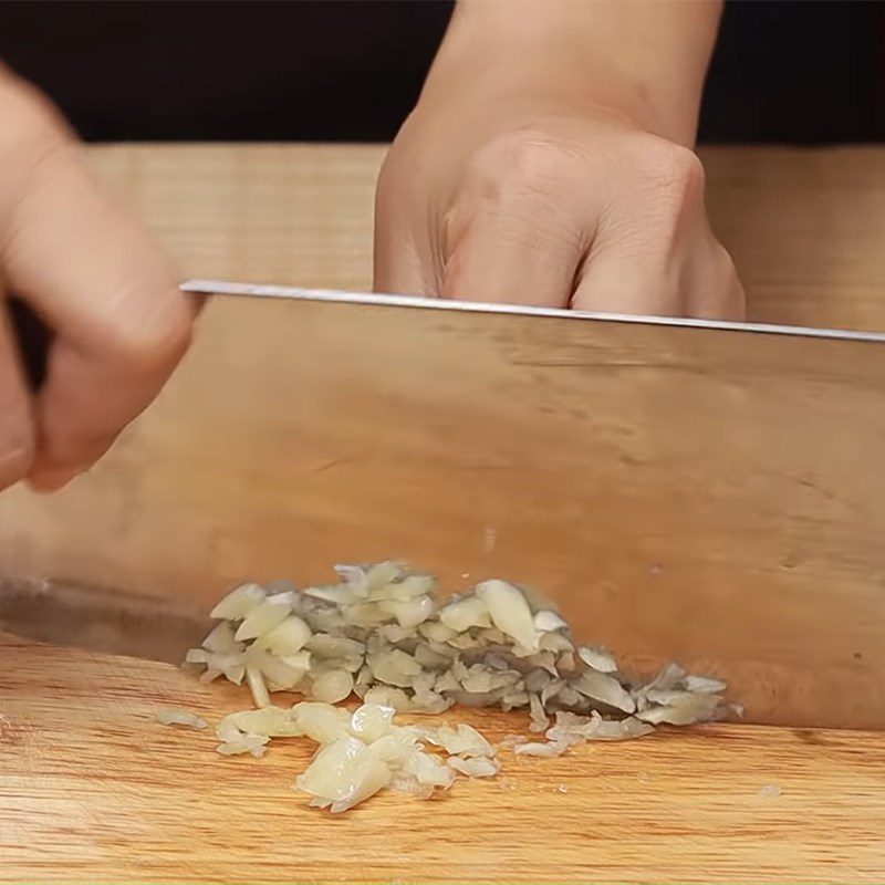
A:
[[[2,304],[0,304],[2,308]],[[0,312],[0,490],[18,482],[34,458],[31,398],[18,344],[6,311]]]

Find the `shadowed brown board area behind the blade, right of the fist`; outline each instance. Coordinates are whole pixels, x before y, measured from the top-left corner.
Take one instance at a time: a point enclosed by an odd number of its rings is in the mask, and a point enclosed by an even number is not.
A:
[[[885,330],[885,149],[710,147],[707,204],[756,322]]]

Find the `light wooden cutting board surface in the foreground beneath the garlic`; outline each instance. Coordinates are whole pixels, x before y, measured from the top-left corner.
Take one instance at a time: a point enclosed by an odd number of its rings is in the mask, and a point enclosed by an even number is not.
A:
[[[163,706],[247,706],[167,665],[0,638],[0,882],[876,882],[885,735],[705,727],[518,759],[344,816],[293,792],[306,741],[222,758]],[[491,739],[524,716],[458,711]],[[779,787],[780,795],[764,795]]]

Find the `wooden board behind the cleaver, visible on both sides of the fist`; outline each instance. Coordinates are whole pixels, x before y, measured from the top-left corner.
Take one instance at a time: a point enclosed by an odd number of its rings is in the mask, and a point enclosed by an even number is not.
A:
[[[366,289],[373,145],[90,148],[188,277]],[[706,147],[714,229],[750,319],[885,331],[885,148]]]

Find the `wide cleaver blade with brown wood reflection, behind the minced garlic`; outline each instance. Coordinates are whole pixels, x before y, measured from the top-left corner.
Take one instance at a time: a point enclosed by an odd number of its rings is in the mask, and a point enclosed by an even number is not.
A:
[[[163,425],[139,465],[179,485],[143,496],[129,558],[39,532],[113,530],[107,473],[29,504],[3,629],[177,662],[229,583],[402,555],[537,586],[579,638],[726,676],[757,721],[885,727],[884,335],[183,289],[227,322],[136,428]]]

